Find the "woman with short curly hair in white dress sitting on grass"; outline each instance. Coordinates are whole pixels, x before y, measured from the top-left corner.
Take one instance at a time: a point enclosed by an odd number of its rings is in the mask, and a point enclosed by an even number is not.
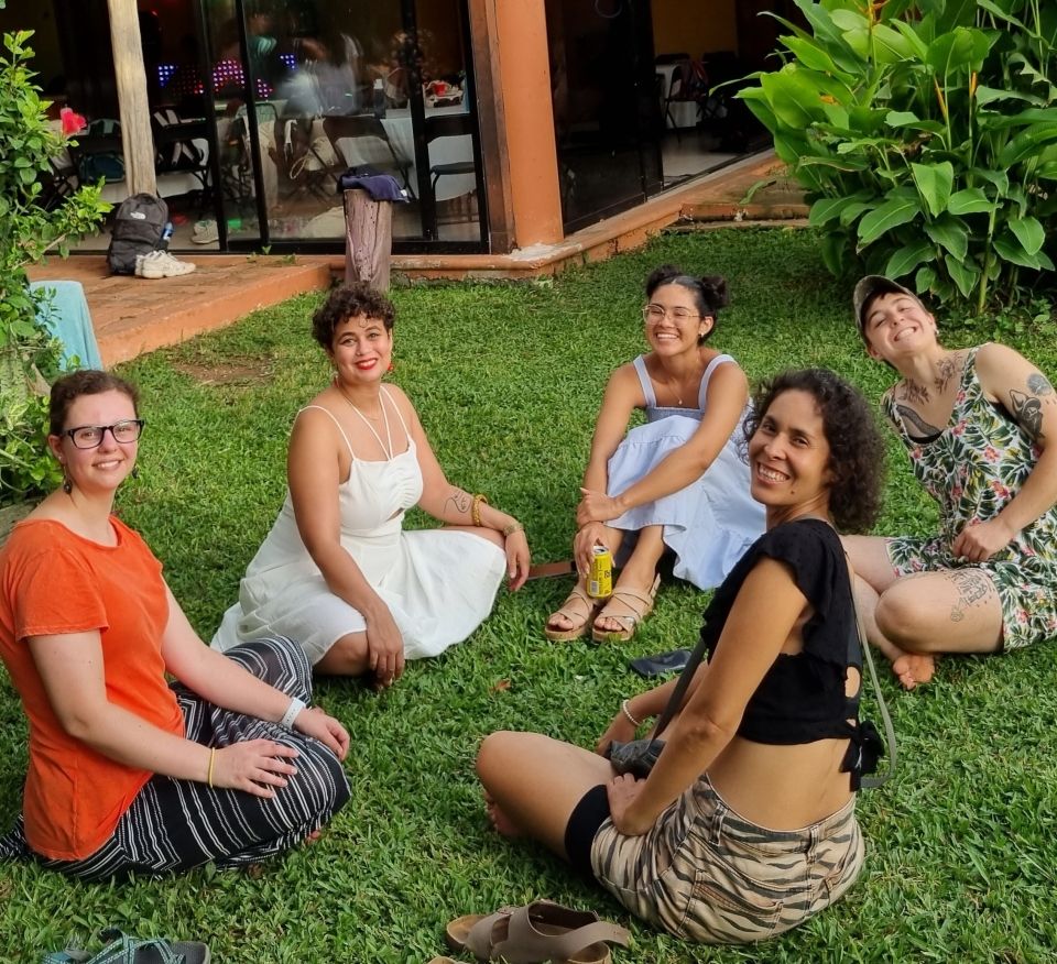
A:
[[[334,381],[294,420],[290,490],[213,645],[298,642],[318,672],[399,679],[405,659],[466,639],[505,572],[528,573],[521,524],[445,478],[407,396],[383,385],[392,303],[367,284],[336,288],[313,318]],[[404,532],[418,505],[445,523]]]

